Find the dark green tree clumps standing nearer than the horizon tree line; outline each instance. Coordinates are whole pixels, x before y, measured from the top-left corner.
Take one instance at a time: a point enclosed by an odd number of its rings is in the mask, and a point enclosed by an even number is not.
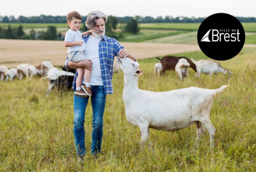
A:
[[[115,32],[116,25],[118,24],[118,19],[113,16],[108,17],[108,22],[106,22],[106,35],[111,38],[122,38],[124,32],[129,32],[131,34],[136,34],[140,31],[138,27],[138,22],[135,18],[130,18],[126,24],[124,21],[120,20],[122,25],[120,32]],[[80,31],[88,31],[88,28],[83,24]],[[40,40],[63,40],[64,36],[61,33],[57,32],[57,29],[54,25],[49,25],[46,31],[36,32],[34,29],[31,29],[29,34],[26,34],[23,31],[22,24],[17,28],[12,28],[9,24],[7,28],[0,27],[0,39],[40,39]]]

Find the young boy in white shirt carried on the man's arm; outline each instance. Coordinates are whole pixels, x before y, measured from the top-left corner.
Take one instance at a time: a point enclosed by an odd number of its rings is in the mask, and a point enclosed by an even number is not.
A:
[[[77,11],[72,11],[67,15],[67,24],[70,27],[65,35],[65,47],[68,47],[68,58],[72,62],[80,62],[87,59],[84,55],[85,43],[82,36],[89,34],[92,31],[86,31],[81,33],[79,31],[81,27],[82,17]],[[92,96],[90,87],[90,75],[91,71],[84,68],[77,68],[76,79],[76,92],[74,93],[79,97]],[[84,76],[85,86],[82,85]]]

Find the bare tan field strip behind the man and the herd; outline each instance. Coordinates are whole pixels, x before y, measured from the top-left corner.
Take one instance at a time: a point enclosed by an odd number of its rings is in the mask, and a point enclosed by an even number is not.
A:
[[[159,44],[159,43],[121,43],[137,59],[145,59],[167,54],[193,52],[200,50],[198,45]],[[256,45],[253,45],[256,47]],[[246,46],[247,47],[247,46]],[[63,41],[35,41],[0,39],[0,66],[16,68],[19,64],[29,63],[37,66],[42,61],[53,65],[63,65],[67,48]]]

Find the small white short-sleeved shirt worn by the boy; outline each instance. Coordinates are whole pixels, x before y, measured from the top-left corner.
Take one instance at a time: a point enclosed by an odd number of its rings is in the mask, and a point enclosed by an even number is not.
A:
[[[78,31],[73,31],[71,29],[68,29],[68,31],[66,32],[64,41],[65,42],[83,41],[83,45],[81,45],[81,46],[76,45],[74,47],[68,47],[68,53],[69,52],[76,52],[76,51],[81,51],[81,52],[84,51],[85,43],[84,43],[84,40],[82,38],[82,34],[79,30]]]

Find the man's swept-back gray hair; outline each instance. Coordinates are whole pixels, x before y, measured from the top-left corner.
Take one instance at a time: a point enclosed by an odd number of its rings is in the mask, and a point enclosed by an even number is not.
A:
[[[96,26],[96,20],[98,20],[99,18],[103,18],[105,23],[108,20],[108,16],[102,13],[102,11],[91,11],[86,18],[86,27],[89,30],[93,29],[93,27]]]

